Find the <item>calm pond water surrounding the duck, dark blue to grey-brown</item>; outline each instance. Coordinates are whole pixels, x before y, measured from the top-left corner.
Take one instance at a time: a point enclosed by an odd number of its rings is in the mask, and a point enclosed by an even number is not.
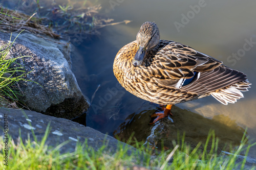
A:
[[[211,128],[224,141],[239,141],[248,127],[249,139],[256,141],[256,1],[100,0],[95,3],[101,4],[101,12],[116,22],[126,19],[132,22],[102,28],[100,36],[84,39],[76,46],[72,69],[92,104],[86,122],[81,117],[80,123],[102,133],[118,134],[121,139],[135,131],[136,138],[146,140],[144,131],[152,128],[147,125],[149,115],[159,106],[120,87],[112,66],[120,48],[136,39],[142,23],[155,21],[161,39],[182,42],[221,60],[244,72],[252,83],[249,91],[243,93],[244,98],[235,104],[225,106],[211,96],[177,104],[172,110],[175,123],[180,125],[176,129],[186,131],[194,142],[207,136]],[[255,155],[256,146],[249,153]]]

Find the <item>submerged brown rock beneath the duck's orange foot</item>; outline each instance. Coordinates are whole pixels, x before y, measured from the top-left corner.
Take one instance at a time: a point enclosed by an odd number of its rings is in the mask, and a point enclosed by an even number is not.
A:
[[[160,108],[158,108],[160,109]],[[226,115],[215,115],[212,119],[205,118],[191,111],[172,108],[172,120],[165,118],[154,126],[147,125],[151,115],[156,110],[144,110],[138,114],[129,115],[114,132],[119,139],[127,140],[134,133],[138,141],[146,141],[152,147],[161,148],[162,141],[165,148],[172,148],[173,140],[177,140],[177,134],[185,132],[185,141],[196,146],[200,141],[205,142],[210,129],[215,130],[220,139],[219,148],[223,149],[227,143],[239,144],[244,129],[237,125]]]

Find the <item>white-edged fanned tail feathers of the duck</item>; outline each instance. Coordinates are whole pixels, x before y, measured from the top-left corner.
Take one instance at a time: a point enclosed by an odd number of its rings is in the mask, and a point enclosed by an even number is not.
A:
[[[251,85],[248,80],[224,87],[222,89],[211,92],[210,94],[219,102],[224,105],[228,103],[235,103],[238,99],[243,98],[244,95],[241,91],[248,91]]]

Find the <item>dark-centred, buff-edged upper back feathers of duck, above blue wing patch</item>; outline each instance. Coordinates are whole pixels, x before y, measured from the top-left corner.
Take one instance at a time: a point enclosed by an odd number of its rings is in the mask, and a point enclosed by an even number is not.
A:
[[[160,50],[152,60],[149,74],[161,80],[192,78],[195,71],[208,71],[222,62],[187,45],[161,40]]]

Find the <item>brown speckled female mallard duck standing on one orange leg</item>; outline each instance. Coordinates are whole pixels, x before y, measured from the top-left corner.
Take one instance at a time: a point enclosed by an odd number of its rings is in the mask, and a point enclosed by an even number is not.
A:
[[[159,119],[172,115],[172,105],[214,96],[224,105],[243,98],[251,85],[243,72],[179,42],[161,40],[155,22],[145,22],[136,40],[117,53],[114,75],[137,97],[167,105]]]

